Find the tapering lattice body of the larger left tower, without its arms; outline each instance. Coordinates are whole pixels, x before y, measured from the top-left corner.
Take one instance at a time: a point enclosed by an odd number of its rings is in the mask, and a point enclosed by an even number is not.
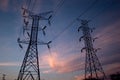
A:
[[[38,24],[39,17],[33,16],[30,42],[20,69],[18,80],[28,80],[29,78],[32,80],[40,80],[37,50]]]

